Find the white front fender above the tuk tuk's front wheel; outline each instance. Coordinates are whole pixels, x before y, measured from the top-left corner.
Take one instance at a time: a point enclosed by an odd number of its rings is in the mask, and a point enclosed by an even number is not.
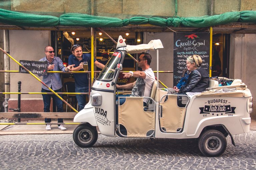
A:
[[[86,108],[78,112],[74,117],[74,122],[87,122],[92,126],[98,126],[94,116],[93,107]]]

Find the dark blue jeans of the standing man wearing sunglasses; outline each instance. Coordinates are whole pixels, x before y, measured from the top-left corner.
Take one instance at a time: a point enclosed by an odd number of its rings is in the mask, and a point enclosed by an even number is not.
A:
[[[49,92],[51,93],[50,90],[45,90],[42,88],[41,90],[42,93]],[[61,89],[54,90],[56,93],[61,93]],[[62,100],[58,98],[55,94],[42,94],[43,96],[43,101],[44,101],[44,112],[50,112],[50,105],[51,105],[51,97],[55,100],[56,106],[57,106],[57,112],[63,112],[63,104]],[[60,97],[62,97],[61,94],[59,94]],[[45,118],[44,119],[45,123],[51,123],[52,119],[51,118]],[[63,123],[63,119],[58,119],[58,123]],[[60,125],[58,125],[60,126]]]

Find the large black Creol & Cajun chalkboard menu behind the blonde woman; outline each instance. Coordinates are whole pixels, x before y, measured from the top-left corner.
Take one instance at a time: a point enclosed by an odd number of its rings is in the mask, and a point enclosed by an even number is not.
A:
[[[201,67],[209,72],[210,64],[210,33],[174,33],[173,47],[173,86],[182,78],[187,57],[199,55]]]

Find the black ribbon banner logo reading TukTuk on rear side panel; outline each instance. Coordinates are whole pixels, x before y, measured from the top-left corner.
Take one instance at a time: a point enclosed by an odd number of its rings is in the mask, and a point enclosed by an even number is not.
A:
[[[235,114],[236,107],[231,107],[230,105],[205,105],[200,109],[200,114],[210,114],[210,113],[225,113],[225,114]],[[214,115],[214,114],[213,114]]]

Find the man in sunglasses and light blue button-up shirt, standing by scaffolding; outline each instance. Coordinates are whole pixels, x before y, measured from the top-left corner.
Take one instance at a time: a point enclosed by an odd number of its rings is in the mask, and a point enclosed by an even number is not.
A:
[[[45,47],[45,54],[46,56],[39,61],[47,61],[48,67],[47,71],[63,71],[68,72],[71,68],[73,68],[74,65],[69,65],[65,67],[63,65],[63,62],[59,57],[54,56],[54,49],[51,46]],[[62,82],[60,79],[60,73],[47,73],[47,75],[40,75],[43,76],[43,82],[50,87],[54,92],[61,93],[61,87]],[[51,92],[47,87],[45,87],[42,84],[42,93],[44,92]],[[58,98],[56,95],[48,95],[48,94],[42,94],[43,101],[44,101],[44,112],[50,112],[50,104],[51,104],[51,97],[55,100],[56,106],[57,106],[57,112],[63,112],[63,104],[62,100]],[[59,95],[62,97],[62,95]],[[51,119],[45,118],[45,123],[51,123]],[[58,123],[63,123],[63,119],[58,119]],[[58,125],[59,129],[66,130],[64,125]],[[51,130],[51,125],[46,125],[46,130]]]

